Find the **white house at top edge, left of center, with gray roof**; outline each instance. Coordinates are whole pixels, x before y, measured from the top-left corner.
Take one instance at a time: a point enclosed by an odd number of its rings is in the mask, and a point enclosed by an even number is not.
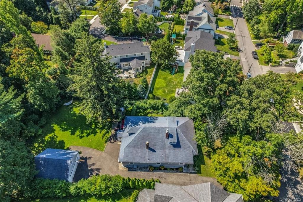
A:
[[[134,2],[134,10],[138,8],[143,13],[147,15],[153,15],[155,17],[160,16],[160,10],[155,9],[155,6],[160,7],[160,1],[158,0],[138,0]]]

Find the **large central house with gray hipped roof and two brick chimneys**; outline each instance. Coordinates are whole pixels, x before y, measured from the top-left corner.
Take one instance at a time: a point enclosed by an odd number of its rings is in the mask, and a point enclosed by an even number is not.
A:
[[[125,116],[118,162],[124,167],[179,168],[198,155],[193,120],[186,117]]]

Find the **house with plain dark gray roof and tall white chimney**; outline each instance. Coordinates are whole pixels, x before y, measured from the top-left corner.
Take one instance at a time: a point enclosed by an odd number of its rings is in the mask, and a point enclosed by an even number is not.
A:
[[[195,50],[217,52],[214,36],[204,31],[188,31],[185,37],[183,62],[188,62],[189,57],[195,54]]]

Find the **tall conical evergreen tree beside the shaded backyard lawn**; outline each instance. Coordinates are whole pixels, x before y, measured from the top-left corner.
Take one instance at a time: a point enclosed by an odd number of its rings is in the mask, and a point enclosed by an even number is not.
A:
[[[80,112],[88,122],[118,117],[123,103],[115,66],[109,57],[102,56],[103,50],[100,40],[91,35],[84,34],[75,44],[75,69],[71,76],[74,83],[69,90],[82,99]]]

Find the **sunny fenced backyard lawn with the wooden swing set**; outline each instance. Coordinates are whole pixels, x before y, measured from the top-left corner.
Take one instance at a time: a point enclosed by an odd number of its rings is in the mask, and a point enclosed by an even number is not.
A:
[[[172,68],[157,67],[155,77],[151,85],[151,93],[158,99],[168,99],[175,96],[177,88],[180,88],[183,81],[184,69],[179,66],[178,72],[171,75]]]

